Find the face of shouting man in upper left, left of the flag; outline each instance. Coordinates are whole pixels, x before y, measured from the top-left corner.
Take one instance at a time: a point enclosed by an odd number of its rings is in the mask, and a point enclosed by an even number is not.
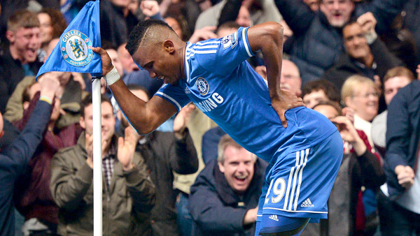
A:
[[[13,33],[13,36],[8,37],[10,47],[15,48],[16,52],[18,52],[19,59],[24,64],[36,60],[38,50],[41,47],[39,31],[39,27],[21,27]]]

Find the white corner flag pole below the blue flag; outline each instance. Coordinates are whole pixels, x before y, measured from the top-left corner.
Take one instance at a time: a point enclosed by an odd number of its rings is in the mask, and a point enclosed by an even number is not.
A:
[[[102,111],[101,80],[92,81],[93,107],[93,235],[102,236]]]

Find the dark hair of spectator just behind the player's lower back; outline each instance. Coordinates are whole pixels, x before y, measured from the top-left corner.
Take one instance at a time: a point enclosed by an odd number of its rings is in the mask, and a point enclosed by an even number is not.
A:
[[[330,101],[339,103],[339,91],[337,87],[328,80],[312,80],[304,84],[302,87],[302,98],[307,94],[311,94],[312,92],[319,90],[324,91]]]

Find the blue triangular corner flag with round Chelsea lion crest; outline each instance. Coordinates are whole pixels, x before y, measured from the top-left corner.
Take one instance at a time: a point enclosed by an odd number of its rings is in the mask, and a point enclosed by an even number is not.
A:
[[[39,75],[49,71],[66,71],[102,75],[102,61],[92,47],[101,47],[99,0],[89,1],[59,38]]]

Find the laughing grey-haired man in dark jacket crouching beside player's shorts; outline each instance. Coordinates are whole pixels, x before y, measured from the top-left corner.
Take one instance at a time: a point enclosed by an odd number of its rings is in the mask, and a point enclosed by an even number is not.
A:
[[[193,235],[254,235],[266,168],[265,161],[224,135],[218,160],[211,161],[191,186]]]

